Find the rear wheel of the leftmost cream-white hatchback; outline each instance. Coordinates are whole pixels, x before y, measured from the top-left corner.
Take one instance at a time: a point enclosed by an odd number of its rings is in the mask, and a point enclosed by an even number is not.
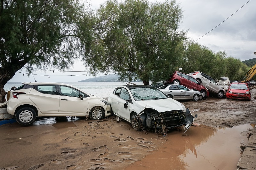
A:
[[[16,121],[21,125],[31,125],[36,120],[36,111],[31,107],[23,107],[15,115]]]

